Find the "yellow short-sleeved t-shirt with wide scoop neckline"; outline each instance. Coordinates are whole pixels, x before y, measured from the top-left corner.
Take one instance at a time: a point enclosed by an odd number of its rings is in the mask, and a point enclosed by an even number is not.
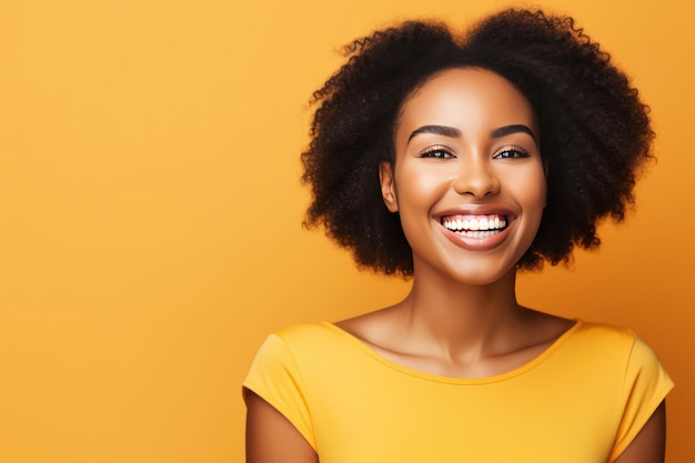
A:
[[[271,334],[243,383],[321,463],[606,463],[673,387],[634,332],[578,321],[511,372],[423,373],[331,323]]]

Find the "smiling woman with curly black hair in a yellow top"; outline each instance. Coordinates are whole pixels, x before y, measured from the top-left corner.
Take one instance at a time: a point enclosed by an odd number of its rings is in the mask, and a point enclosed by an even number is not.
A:
[[[315,92],[308,222],[412,288],[268,338],[244,381],[248,462],[663,462],[673,382],[654,352],[515,290],[623,219],[653,138],[625,76],[572,19],[525,10],[346,52]]]

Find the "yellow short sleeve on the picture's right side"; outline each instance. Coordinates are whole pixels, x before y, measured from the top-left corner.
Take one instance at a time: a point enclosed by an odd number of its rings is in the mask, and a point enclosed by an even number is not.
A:
[[[623,417],[611,453],[611,462],[629,446],[673,385],[654,351],[635,336],[625,371]]]

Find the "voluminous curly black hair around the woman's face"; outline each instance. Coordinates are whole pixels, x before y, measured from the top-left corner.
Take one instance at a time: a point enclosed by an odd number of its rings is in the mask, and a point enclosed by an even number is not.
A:
[[[312,189],[306,227],[353,251],[362,268],[413,273],[397,213],[385,208],[379,165],[394,162],[400,111],[434,74],[475,67],[496,72],[531,102],[548,171],[540,230],[518,262],[567,262],[575,245],[600,244],[596,223],[625,218],[651,154],[648,108],[570,17],[510,9],[454,36],[439,22],[407,21],[344,48],[348,62],[314,92],[302,180]]]

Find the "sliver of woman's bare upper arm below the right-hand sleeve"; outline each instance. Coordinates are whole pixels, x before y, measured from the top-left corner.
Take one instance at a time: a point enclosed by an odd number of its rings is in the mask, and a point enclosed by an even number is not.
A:
[[[654,411],[639,434],[615,463],[664,463],[666,452],[666,402]]]

